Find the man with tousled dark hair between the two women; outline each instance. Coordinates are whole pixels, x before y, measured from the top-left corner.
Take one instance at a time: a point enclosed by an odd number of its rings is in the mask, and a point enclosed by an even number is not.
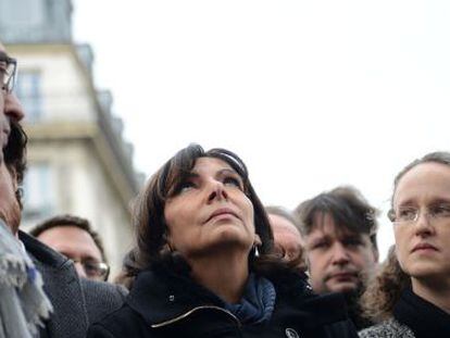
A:
[[[342,292],[357,328],[370,326],[359,299],[378,261],[377,210],[357,189],[338,187],[302,202],[296,213],[313,289]]]

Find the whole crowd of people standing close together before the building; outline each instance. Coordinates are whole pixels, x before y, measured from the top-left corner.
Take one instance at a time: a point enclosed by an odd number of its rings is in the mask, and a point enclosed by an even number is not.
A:
[[[450,337],[450,153],[395,178],[379,262],[379,212],[357,189],[264,206],[236,153],[190,145],[136,198],[135,247],[108,281],[88,220],[20,229],[15,77],[0,42],[0,338]]]

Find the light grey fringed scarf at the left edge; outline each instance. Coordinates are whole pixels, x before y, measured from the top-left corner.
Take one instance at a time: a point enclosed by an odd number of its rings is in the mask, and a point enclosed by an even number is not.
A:
[[[0,221],[0,338],[32,338],[52,306],[42,277],[10,228]]]

